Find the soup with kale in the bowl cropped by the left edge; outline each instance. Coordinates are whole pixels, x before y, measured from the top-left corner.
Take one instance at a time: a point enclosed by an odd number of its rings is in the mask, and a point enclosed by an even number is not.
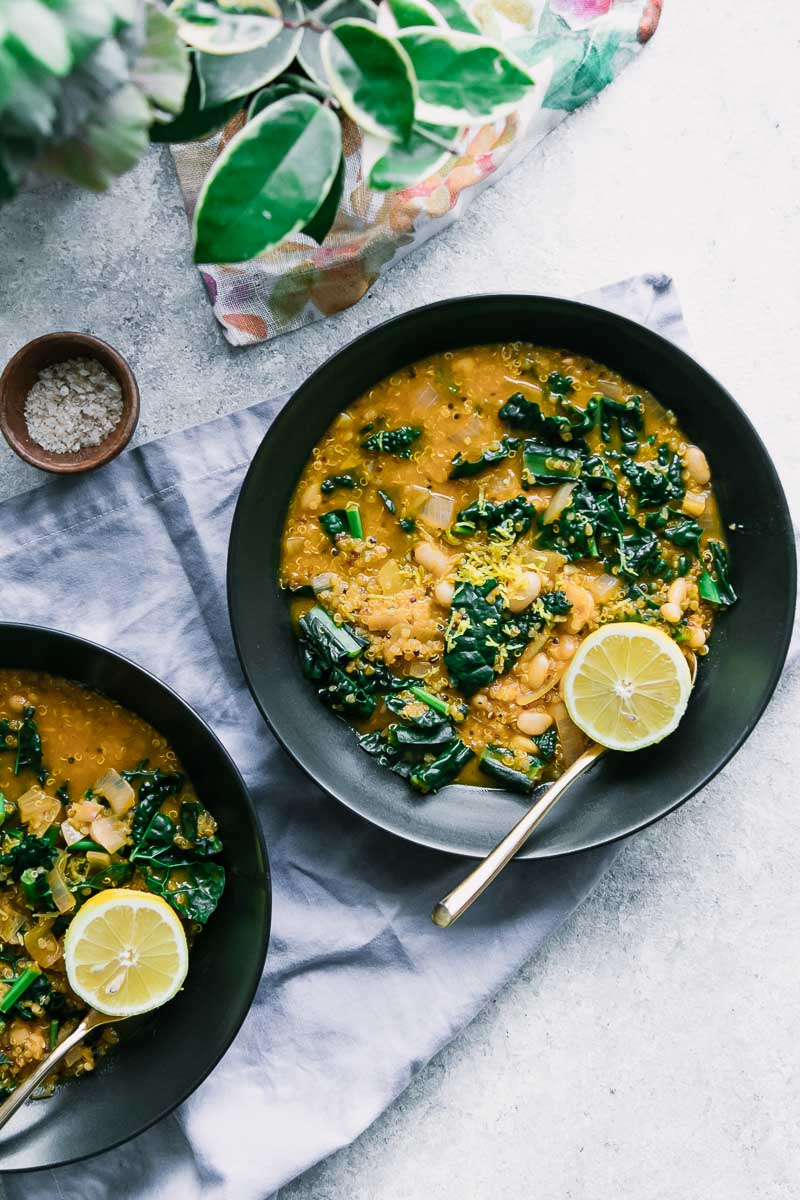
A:
[[[216,822],[167,740],[121,704],[42,672],[0,670],[0,810],[1,1097],[85,1012],[64,967],[80,905],[113,887],[156,892],[192,935],[224,870]],[[91,1070],[114,1040],[98,1032],[60,1074]]]

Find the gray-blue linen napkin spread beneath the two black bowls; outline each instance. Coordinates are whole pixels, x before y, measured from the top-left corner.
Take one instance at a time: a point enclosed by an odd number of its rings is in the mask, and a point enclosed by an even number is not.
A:
[[[685,342],[666,276],[587,299]],[[275,744],[239,668],[224,574],[242,476],[284,400],[0,505],[0,618],[91,637],[176,688],[243,772],[275,886],[264,979],[210,1079],[118,1151],[7,1175],[10,1200],[265,1200],[374,1121],[615,857],[515,864],[443,932],[431,907],[465,864],[373,829]]]

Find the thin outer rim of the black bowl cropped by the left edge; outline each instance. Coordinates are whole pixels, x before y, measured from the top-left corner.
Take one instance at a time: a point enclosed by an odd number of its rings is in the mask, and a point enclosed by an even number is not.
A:
[[[186,1087],[179,1090],[179,1094],[175,1099],[170,1100],[168,1104],[160,1106],[157,1114],[154,1117],[151,1117],[149,1121],[146,1121],[138,1128],[133,1129],[131,1133],[126,1134],[122,1138],[116,1138],[115,1140],[109,1141],[107,1145],[100,1146],[97,1150],[92,1150],[83,1154],[73,1154],[73,1156],[67,1156],[66,1158],[59,1158],[54,1162],[46,1163],[38,1168],[13,1166],[13,1165],[0,1168],[0,1171],[2,1174],[19,1175],[19,1174],[25,1174],[26,1171],[53,1170],[59,1166],[68,1166],[73,1163],[83,1163],[90,1158],[95,1158],[97,1154],[104,1154],[109,1151],[119,1148],[120,1146],[124,1146],[133,1138],[138,1138],[140,1134],[146,1133],[148,1129],[151,1129],[154,1126],[158,1124],[158,1122],[163,1121],[164,1117],[170,1115],[170,1112],[174,1112],[176,1108],[184,1104],[190,1098],[190,1096],[192,1096],[198,1090],[198,1087],[209,1078],[211,1072],[215,1070],[215,1068],[219,1064],[222,1058],[230,1050],[230,1046],[233,1045],[234,1040],[239,1037],[241,1027],[245,1024],[245,1020],[247,1019],[251,1008],[253,1007],[253,1000],[255,998],[255,992],[258,991],[259,984],[264,976],[264,964],[266,962],[266,956],[270,948],[270,935],[272,929],[272,870],[270,865],[269,851],[266,847],[266,839],[264,836],[264,830],[261,828],[261,822],[259,821],[255,805],[253,804],[253,798],[249,794],[249,790],[245,782],[245,779],[239,767],[236,766],[233,758],[233,755],[225,749],[225,746],[219,740],[219,738],[213,732],[207,721],[205,721],[200,716],[200,714],[196,712],[194,708],[192,708],[188,701],[184,700],[184,697],[178,691],[175,691],[174,688],[172,688],[168,683],[161,679],[160,676],[154,674],[152,671],[149,671],[146,667],[140,666],[133,659],[127,658],[127,655],[120,654],[118,650],[112,650],[107,646],[103,646],[101,642],[94,642],[90,638],[82,637],[78,634],[70,634],[61,629],[54,629],[50,625],[36,625],[30,622],[16,622],[16,620],[0,620],[0,630],[2,629],[18,630],[20,636],[24,636],[25,634],[30,632],[36,632],[37,635],[43,635],[46,637],[55,637],[61,641],[72,642],[74,646],[79,648],[86,648],[92,652],[100,652],[102,655],[106,655],[107,658],[113,659],[116,662],[121,662],[125,667],[132,668],[134,672],[145,676],[150,680],[150,683],[154,683],[156,684],[156,686],[162,688],[164,691],[169,692],[172,700],[175,701],[178,706],[184,709],[184,713],[188,718],[194,720],[197,724],[203,726],[211,743],[215,745],[215,749],[228,761],[228,766],[233,770],[233,774],[239,782],[241,798],[243,799],[246,810],[251,816],[252,824],[255,830],[255,838],[260,845],[260,850],[264,856],[264,884],[265,884],[265,898],[266,898],[266,902],[264,905],[261,931],[260,931],[261,950],[257,955],[257,962],[252,972],[252,978],[248,980],[247,986],[245,989],[245,995],[247,1000],[246,1003],[242,1006],[241,1018],[228,1044],[216,1055],[216,1057],[212,1061],[210,1061],[207,1064],[204,1064],[200,1072],[192,1074],[191,1082]],[[0,664],[0,666],[2,666],[2,664]],[[26,668],[20,668],[20,670],[26,670]],[[74,680],[74,682],[79,683],[80,680]],[[86,684],[85,686],[91,686],[91,685]],[[131,708],[131,712],[136,713],[137,709]],[[142,716],[143,714],[138,713],[137,715]],[[144,719],[146,720],[146,718]],[[191,970],[191,960],[190,960],[190,970]],[[20,1134],[23,1134],[23,1130],[20,1130]],[[2,1138],[0,1135],[0,1151],[1,1148],[2,1148]]]

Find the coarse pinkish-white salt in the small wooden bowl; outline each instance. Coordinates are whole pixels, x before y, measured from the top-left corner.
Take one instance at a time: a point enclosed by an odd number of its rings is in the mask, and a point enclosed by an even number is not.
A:
[[[122,389],[95,359],[70,359],[43,367],[25,397],[25,425],[52,454],[97,446],[122,416]]]

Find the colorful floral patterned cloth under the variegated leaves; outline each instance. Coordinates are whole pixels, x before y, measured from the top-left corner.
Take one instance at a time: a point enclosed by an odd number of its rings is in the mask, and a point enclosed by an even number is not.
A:
[[[200,274],[234,346],[252,346],[354,305],[381,271],[459,217],[471,200],[564,118],[612,82],[649,41],[662,0],[477,0],[485,30],[531,67],[537,86],[511,116],[474,131],[462,156],[402,192],[374,192],[361,173],[357,128],[343,122],[347,181],[323,246],[296,234],[248,263]],[[242,116],[213,138],[175,146],[191,215],[216,155]]]

